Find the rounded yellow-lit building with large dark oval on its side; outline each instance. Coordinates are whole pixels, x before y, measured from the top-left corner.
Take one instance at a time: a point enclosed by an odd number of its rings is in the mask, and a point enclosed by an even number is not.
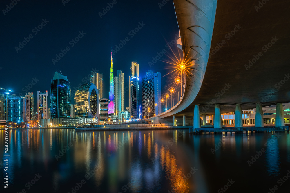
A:
[[[75,118],[99,116],[99,93],[95,84],[85,83],[75,92]]]

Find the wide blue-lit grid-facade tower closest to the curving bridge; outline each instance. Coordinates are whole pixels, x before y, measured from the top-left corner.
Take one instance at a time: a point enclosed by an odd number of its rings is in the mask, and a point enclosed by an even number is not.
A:
[[[162,112],[161,101],[161,73],[151,70],[142,78],[142,116],[153,117]]]

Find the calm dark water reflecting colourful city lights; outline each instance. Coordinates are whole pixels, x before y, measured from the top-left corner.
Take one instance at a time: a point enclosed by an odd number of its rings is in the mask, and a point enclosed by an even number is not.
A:
[[[10,130],[9,192],[289,192],[290,135],[279,135]]]

